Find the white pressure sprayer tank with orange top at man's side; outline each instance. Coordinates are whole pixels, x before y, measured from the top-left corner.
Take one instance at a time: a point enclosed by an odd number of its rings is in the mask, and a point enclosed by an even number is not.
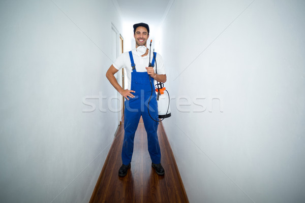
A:
[[[168,93],[164,92],[165,87],[159,90],[160,95],[158,98],[158,89],[156,89],[159,118],[168,118],[171,116]]]

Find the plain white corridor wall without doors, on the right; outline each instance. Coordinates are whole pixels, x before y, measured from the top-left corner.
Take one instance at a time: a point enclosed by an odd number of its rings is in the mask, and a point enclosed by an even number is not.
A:
[[[190,202],[305,201],[305,2],[251,2],[176,0],[161,27]]]

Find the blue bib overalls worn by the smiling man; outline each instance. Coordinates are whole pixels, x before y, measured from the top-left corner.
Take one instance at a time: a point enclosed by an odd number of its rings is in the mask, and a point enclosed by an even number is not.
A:
[[[154,52],[156,57],[156,52]],[[122,148],[122,161],[124,165],[128,165],[131,162],[135,132],[138,128],[140,117],[142,116],[144,127],[147,133],[148,142],[148,152],[153,163],[159,164],[161,162],[161,152],[158,141],[157,129],[158,122],[150,118],[153,117],[158,120],[158,105],[156,99],[156,93],[153,95],[149,101],[149,113],[147,111],[147,104],[149,97],[151,95],[151,84],[154,87],[154,78],[150,78],[147,72],[137,72],[136,65],[133,60],[132,52],[129,52],[132,73],[131,73],[131,90],[134,90],[132,94],[134,98],[128,97],[129,100],[125,100],[125,115],[124,115],[124,142]],[[155,63],[155,58],[153,57],[152,64]]]

